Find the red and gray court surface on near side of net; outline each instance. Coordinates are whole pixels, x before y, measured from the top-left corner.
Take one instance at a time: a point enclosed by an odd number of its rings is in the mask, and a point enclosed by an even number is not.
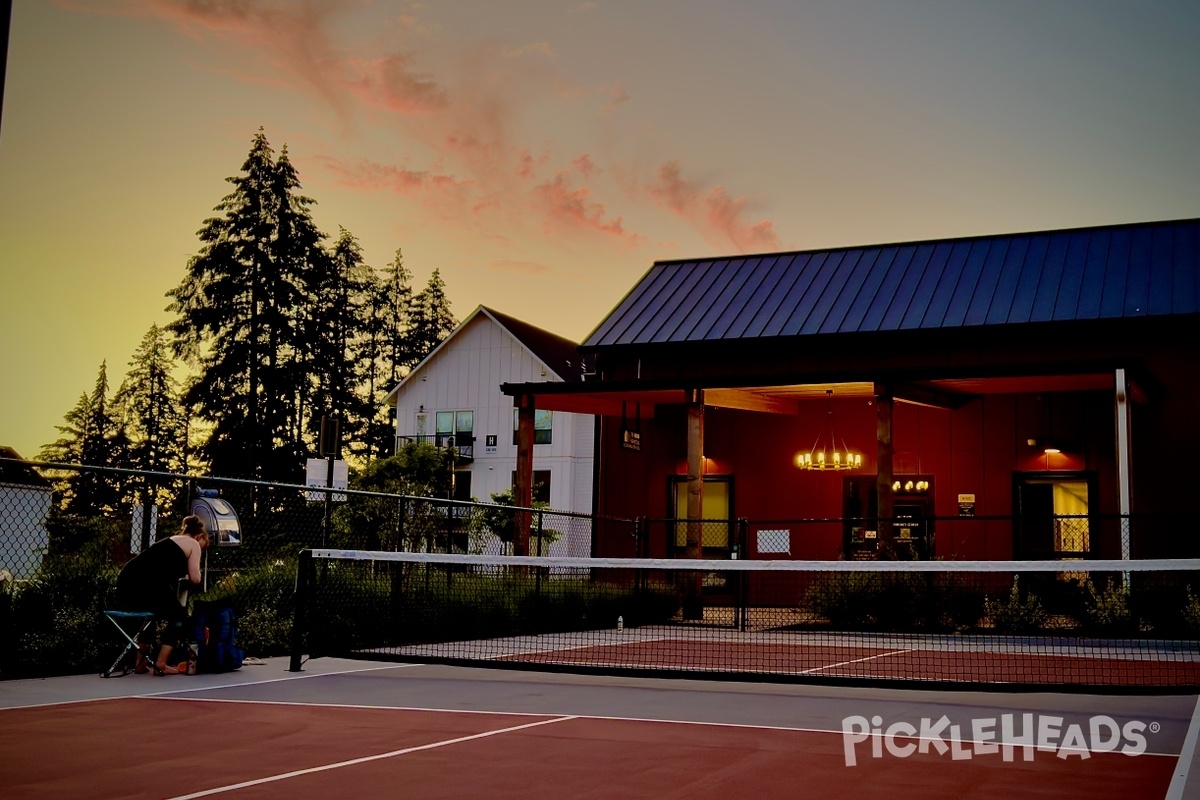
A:
[[[1200,798],[1194,694],[287,666],[0,682],[0,796]]]

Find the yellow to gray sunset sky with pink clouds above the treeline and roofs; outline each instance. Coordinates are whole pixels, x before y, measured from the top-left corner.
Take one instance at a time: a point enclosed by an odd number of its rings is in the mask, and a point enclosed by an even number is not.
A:
[[[0,444],[115,387],[262,127],[330,236],[584,338],[656,259],[1200,216],[1200,4],[16,0]]]

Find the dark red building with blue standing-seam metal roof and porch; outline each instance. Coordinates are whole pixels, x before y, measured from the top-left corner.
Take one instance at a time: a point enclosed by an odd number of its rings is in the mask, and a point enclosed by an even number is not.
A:
[[[1200,554],[1152,519],[1200,447],[1198,332],[1200,219],[683,259],[587,337],[594,375],[504,391],[599,416],[599,513],[707,518],[677,487],[720,483],[792,558],[890,548],[901,511],[930,557]],[[854,467],[797,465],[834,434]]]

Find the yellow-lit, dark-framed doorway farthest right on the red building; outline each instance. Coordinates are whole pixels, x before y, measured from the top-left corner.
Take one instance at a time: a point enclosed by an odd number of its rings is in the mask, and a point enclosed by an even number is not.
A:
[[[1070,559],[1092,552],[1088,497],[1093,479],[1085,474],[1016,477],[1016,557]]]

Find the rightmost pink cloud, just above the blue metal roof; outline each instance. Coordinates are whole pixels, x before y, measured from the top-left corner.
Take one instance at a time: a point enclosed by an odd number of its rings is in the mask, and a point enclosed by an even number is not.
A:
[[[713,245],[732,243],[739,252],[779,249],[779,235],[769,219],[746,222],[749,200],[730,197],[722,186],[706,190],[683,176],[679,162],[659,168],[646,186],[647,196],[662,207],[692,223]]]

